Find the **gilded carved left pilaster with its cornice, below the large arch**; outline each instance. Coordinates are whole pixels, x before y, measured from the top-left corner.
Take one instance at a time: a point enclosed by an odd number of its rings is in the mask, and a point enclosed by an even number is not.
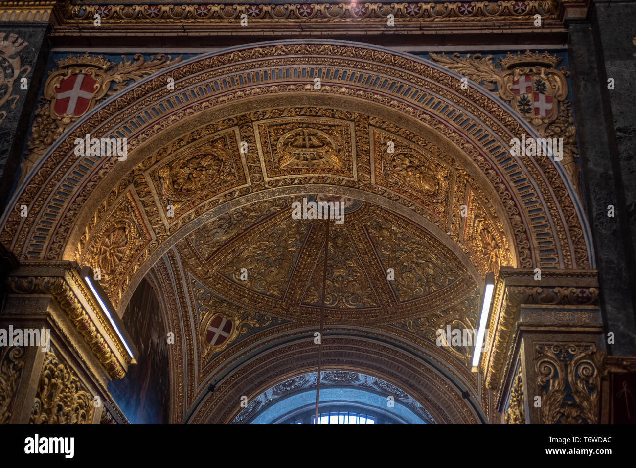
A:
[[[0,423],[125,423],[106,385],[132,360],[75,268],[22,265],[8,288],[0,329],[45,329],[50,346],[1,348],[10,383],[0,392]]]

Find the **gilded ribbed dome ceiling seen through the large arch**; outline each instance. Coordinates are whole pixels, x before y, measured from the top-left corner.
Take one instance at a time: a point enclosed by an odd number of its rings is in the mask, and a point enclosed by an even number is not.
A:
[[[172,275],[186,285],[203,366],[259,331],[319,322],[325,224],[293,219],[291,203],[300,200],[239,207],[176,245]],[[431,343],[448,324],[475,327],[479,288],[466,266],[391,210],[354,200],[343,224],[331,221],[328,254],[326,326],[389,326]],[[471,355],[448,352],[462,364]]]

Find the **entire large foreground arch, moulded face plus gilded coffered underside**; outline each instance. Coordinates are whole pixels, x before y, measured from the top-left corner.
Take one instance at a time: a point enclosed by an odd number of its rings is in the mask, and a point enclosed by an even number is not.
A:
[[[194,57],[69,128],[13,195],[0,240],[23,261],[100,268],[120,313],[153,265],[197,228],[258,200],[312,192],[355,196],[411,219],[455,252],[478,285],[501,265],[593,266],[584,214],[560,163],[511,156],[511,139],[539,135],[494,94],[460,85],[428,60],[344,41],[277,41]],[[336,162],[281,165],[268,145],[278,148],[285,125],[336,128]],[[86,134],[127,138],[127,160],[75,155],[74,141]],[[391,162],[388,141],[402,160],[412,158],[409,167]],[[208,164],[188,179],[191,165]],[[20,216],[22,205],[29,216]],[[191,331],[181,333],[185,355],[193,341]],[[209,378],[188,394],[202,395]]]

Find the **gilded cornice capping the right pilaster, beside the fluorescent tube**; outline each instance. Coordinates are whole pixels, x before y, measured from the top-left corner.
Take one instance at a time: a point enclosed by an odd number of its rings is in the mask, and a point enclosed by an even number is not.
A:
[[[532,269],[501,268],[493,297],[493,312],[488,322],[488,349],[482,357],[488,388],[497,387],[515,325],[520,320],[522,306],[550,309],[590,308],[598,306],[598,279],[595,270],[542,270],[541,280],[534,280]],[[593,308],[593,307],[592,307]],[[577,326],[598,327],[597,317],[575,317]],[[536,323],[534,323],[536,326]],[[553,329],[555,320],[541,320],[541,326]]]

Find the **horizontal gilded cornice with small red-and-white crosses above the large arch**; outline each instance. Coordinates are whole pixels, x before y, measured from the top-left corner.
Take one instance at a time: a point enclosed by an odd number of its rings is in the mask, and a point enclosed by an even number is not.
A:
[[[523,31],[545,32],[560,28],[560,0],[400,2],[400,3],[189,3],[170,4],[73,4],[60,1],[56,9],[56,31],[68,34],[81,28],[84,34],[99,36],[113,31],[137,34],[273,34],[288,36],[307,32],[329,34],[425,34],[447,29],[483,32],[502,26]],[[93,25],[100,15],[103,31]],[[541,15],[541,26],[534,25]],[[390,17],[389,15],[392,15]],[[389,19],[395,25],[389,25]],[[247,20],[247,26],[240,24]]]

